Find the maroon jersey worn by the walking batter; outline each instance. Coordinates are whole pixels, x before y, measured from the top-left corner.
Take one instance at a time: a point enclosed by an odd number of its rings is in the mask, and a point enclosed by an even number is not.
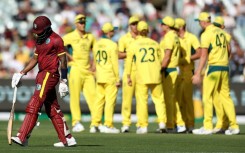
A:
[[[64,42],[62,38],[52,32],[52,34],[42,44],[36,44],[36,51],[39,72],[47,71],[59,74],[59,55],[65,54]]]

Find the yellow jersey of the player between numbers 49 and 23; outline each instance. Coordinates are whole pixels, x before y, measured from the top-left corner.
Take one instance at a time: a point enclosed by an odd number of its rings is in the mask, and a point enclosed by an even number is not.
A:
[[[133,38],[132,34],[130,32],[126,33],[125,35],[123,35],[119,41],[118,41],[118,50],[119,52],[127,52],[130,44],[135,40],[135,38]],[[126,63],[127,63],[127,57],[124,59],[124,70],[127,69],[126,67]],[[134,67],[134,66],[133,66]],[[134,69],[134,68],[133,68]]]

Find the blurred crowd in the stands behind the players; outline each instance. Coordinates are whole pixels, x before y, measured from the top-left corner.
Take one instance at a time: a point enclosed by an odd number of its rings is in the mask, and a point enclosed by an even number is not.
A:
[[[46,15],[59,35],[74,29],[74,17],[85,14],[86,30],[99,38],[101,26],[112,22],[117,27],[114,41],[127,32],[128,19],[138,15],[150,25],[150,37],[160,41],[159,20],[166,15],[182,17],[187,29],[198,37],[201,27],[194,18],[201,11],[210,12],[212,19],[222,16],[226,30],[233,36],[230,77],[245,82],[245,0],[0,0],[0,78],[11,78],[33,55],[35,42],[32,22]],[[122,69],[122,67],[120,68]],[[37,68],[24,78],[35,78]]]

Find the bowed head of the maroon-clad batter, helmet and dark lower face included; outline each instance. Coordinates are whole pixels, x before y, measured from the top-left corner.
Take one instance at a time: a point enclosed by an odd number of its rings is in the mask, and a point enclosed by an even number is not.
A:
[[[36,37],[36,43],[42,44],[53,32],[51,21],[46,16],[39,16],[33,22],[32,32]]]

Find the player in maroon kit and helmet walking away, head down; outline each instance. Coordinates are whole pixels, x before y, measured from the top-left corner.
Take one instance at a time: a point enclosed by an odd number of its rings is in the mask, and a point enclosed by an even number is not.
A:
[[[67,62],[62,38],[52,31],[51,22],[46,16],[39,16],[33,22],[32,32],[36,36],[36,50],[28,65],[12,78],[12,87],[18,85],[20,79],[37,64],[39,72],[36,77],[36,89],[26,107],[26,116],[17,136],[12,141],[21,146],[28,145],[32,129],[35,127],[38,112],[45,106],[45,111],[51,119],[60,142],[55,147],[75,146],[76,140],[70,134],[63,113],[57,101],[55,86],[59,83],[61,98],[68,94]],[[59,74],[61,63],[61,79]]]

